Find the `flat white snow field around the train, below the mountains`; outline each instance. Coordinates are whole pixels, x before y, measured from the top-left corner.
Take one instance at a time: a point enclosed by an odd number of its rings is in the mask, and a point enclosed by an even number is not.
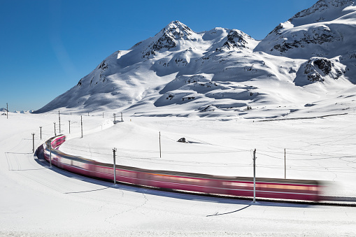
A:
[[[297,111],[293,116],[320,116],[322,110],[318,111]],[[83,115],[83,138],[80,116],[61,115],[68,141],[60,149],[111,162],[117,148],[118,164],[241,176],[252,175],[251,151],[256,149],[257,177],[273,178],[284,178],[286,149],[287,178],[327,180],[332,183],[327,194],[356,196],[356,114],[348,112],[268,122],[124,115],[124,122],[115,125],[112,113],[104,118],[98,113]],[[10,113],[0,120],[1,236],[356,235],[356,208],[171,194],[113,186],[49,168],[33,155],[31,133],[35,146],[53,136],[58,114]],[[182,137],[190,143],[177,143]]]

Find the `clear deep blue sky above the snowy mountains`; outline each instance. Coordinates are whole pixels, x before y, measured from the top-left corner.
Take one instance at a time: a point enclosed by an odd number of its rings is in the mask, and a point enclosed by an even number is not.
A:
[[[239,29],[264,38],[317,0],[0,0],[0,108],[45,106],[116,50],[155,36],[172,20],[193,31]]]

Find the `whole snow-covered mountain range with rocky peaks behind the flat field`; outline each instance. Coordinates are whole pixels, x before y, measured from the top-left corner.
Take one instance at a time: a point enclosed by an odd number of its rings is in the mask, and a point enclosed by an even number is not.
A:
[[[276,117],[325,107],[356,94],[355,27],[350,0],[320,0],[262,41],[237,29],[195,32],[174,21],[129,50],[114,52],[36,113],[254,117],[255,110],[273,110],[268,116]],[[335,110],[350,108],[352,100],[346,101]]]

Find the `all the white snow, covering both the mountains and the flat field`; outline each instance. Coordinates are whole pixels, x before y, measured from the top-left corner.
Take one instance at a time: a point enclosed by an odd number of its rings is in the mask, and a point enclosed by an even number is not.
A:
[[[257,177],[284,178],[286,157],[287,178],[355,198],[355,11],[320,0],[262,41],[174,21],[36,114],[1,110],[0,236],[356,236],[356,208],[114,186],[50,168],[31,136],[56,122],[71,155],[112,163],[117,148],[117,164],[211,175],[252,176],[256,149]]]

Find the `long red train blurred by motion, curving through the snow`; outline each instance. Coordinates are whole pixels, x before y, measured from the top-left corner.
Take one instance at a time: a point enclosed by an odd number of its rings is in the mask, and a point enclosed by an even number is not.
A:
[[[65,136],[51,138],[43,145],[43,154],[49,161],[49,145],[52,141],[52,164],[73,173],[92,178],[114,180],[113,164],[99,163],[92,159],[75,157],[57,150]],[[253,179],[249,177],[225,177],[199,173],[155,171],[116,165],[116,180],[133,185],[183,190],[204,194],[227,196],[253,196]],[[322,186],[315,180],[289,180],[256,178],[256,197],[266,199],[294,199],[319,201]]]

